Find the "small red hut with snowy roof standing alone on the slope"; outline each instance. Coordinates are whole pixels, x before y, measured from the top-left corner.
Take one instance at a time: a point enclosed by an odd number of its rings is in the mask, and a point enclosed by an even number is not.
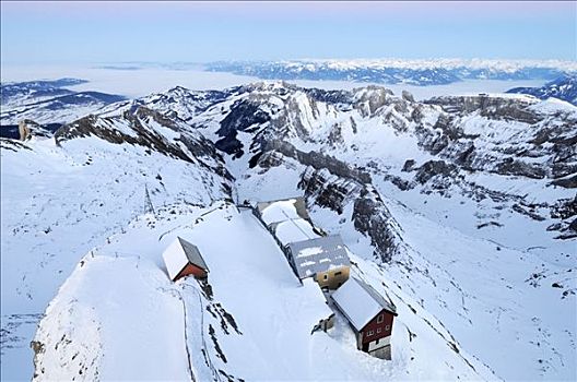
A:
[[[163,259],[173,282],[189,275],[196,278],[207,278],[209,275],[209,267],[197,246],[180,237],[166,248]]]

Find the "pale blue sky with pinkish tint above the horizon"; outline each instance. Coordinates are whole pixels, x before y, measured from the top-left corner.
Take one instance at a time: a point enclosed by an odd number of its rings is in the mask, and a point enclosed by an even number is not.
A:
[[[573,2],[1,2],[2,63],[577,60]]]

